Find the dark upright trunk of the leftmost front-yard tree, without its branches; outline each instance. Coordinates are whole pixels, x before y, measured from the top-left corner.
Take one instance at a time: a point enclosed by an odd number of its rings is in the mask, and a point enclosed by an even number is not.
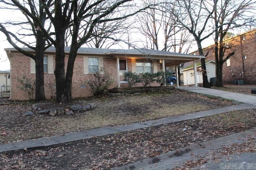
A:
[[[36,90],[35,100],[37,102],[45,100],[44,96],[44,47],[45,39],[41,35],[41,31],[37,31],[38,36],[36,37]]]

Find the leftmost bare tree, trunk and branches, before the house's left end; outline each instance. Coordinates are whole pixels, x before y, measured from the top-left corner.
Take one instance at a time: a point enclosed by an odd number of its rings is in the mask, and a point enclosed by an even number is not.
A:
[[[42,6],[42,2],[36,2],[32,0],[24,1],[24,6],[28,7],[31,14],[37,18],[38,21],[44,26],[47,20],[46,12]],[[50,5],[50,4],[48,4]],[[38,6],[39,8],[34,8]],[[8,10],[20,10],[11,1],[1,1],[1,9]],[[7,41],[20,53],[32,58],[36,63],[36,90],[35,100],[45,100],[44,95],[44,51],[49,44],[46,44],[46,37],[40,29],[38,22],[30,18],[26,13],[20,12],[25,18],[24,21],[15,20],[12,18],[11,21],[2,21],[0,23],[0,31],[2,31],[7,38]],[[50,24],[48,25],[50,28]],[[16,32],[9,31],[9,28],[15,28]],[[30,53],[24,50],[23,47],[28,47],[35,51]]]

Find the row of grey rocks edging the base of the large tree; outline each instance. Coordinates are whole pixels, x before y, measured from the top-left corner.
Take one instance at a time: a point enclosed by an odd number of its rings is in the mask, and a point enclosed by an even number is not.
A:
[[[83,103],[83,102],[81,102]],[[94,104],[89,103],[89,104],[85,104],[85,105],[81,105],[81,104],[76,104],[76,105],[72,105],[71,107],[68,108],[64,108],[64,107],[56,107],[56,108],[51,108],[51,109],[41,109],[40,107],[38,107],[36,104],[32,105],[32,110],[27,111],[26,113],[24,113],[24,115],[28,116],[28,115],[33,115],[34,113],[38,113],[38,114],[49,114],[51,116],[55,116],[55,115],[74,115],[74,113],[79,113],[79,111],[89,111],[94,109]]]

